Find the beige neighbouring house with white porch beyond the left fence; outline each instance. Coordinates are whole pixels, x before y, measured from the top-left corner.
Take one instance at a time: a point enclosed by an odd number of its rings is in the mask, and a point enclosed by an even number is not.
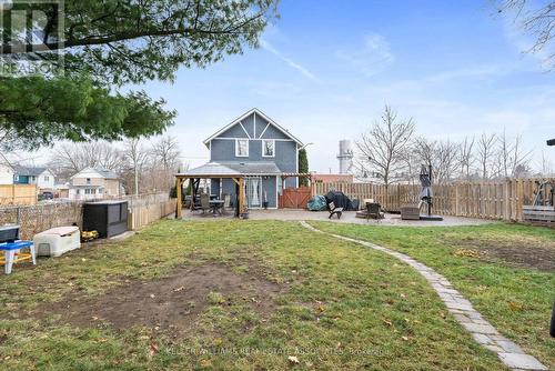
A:
[[[70,178],[69,198],[93,200],[121,195],[121,180],[112,171],[85,168]]]

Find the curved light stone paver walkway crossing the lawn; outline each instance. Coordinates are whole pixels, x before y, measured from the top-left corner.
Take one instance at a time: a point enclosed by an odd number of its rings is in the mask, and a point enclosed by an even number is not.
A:
[[[482,317],[482,314],[480,314],[480,312],[477,312],[472,307],[472,303],[468,300],[466,300],[457,290],[453,288],[453,285],[450,283],[450,281],[447,281],[445,277],[435,272],[433,269],[417,262],[416,260],[404,253],[396,252],[371,242],[323,232],[310,225],[305,221],[301,221],[301,224],[314,232],[327,234],[336,239],[354,242],[374,250],[385,252],[411,265],[426,279],[426,281],[432,285],[432,288],[443,300],[448,311],[453,313],[458,323],[461,323],[472,334],[474,340],[481,345],[497,353],[500,360],[509,369],[547,370],[547,368],[542,364],[536,358],[526,354],[521,349],[521,347],[503,337],[490,322],[487,322]]]

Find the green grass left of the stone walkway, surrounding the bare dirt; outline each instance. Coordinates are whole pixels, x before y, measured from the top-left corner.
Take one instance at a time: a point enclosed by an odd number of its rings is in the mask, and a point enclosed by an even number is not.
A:
[[[181,338],[152,338],[155,332],[141,327],[77,329],[63,318],[32,314],[69,293],[94,298],[125,281],[205,262],[228,264],[236,274],[255,269],[283,285],[272,313],[263,319],[251,305],[223,304],[211,292],[209,307]],[[539,284],[539,275],[529,274]],[[34,269],[16,267],[0,278],[0,307],[3,370],[505,370],[415,271],[296,222],[161,221],[123,242],[41,259]]]

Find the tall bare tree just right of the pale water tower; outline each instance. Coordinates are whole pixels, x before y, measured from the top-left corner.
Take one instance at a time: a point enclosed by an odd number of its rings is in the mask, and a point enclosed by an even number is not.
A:
[[[405,167],[403,152],[407,150],[413,133],[413,119],[398,119],[386,104],[381,119],[355,141],[360,166],[380,174],[387,189],[401,178]]]

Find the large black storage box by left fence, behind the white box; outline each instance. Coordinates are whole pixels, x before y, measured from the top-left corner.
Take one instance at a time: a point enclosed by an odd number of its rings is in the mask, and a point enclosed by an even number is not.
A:
[[[83,231],[110,238],[128,230],[128,201],[97,201],[83,204]]]

